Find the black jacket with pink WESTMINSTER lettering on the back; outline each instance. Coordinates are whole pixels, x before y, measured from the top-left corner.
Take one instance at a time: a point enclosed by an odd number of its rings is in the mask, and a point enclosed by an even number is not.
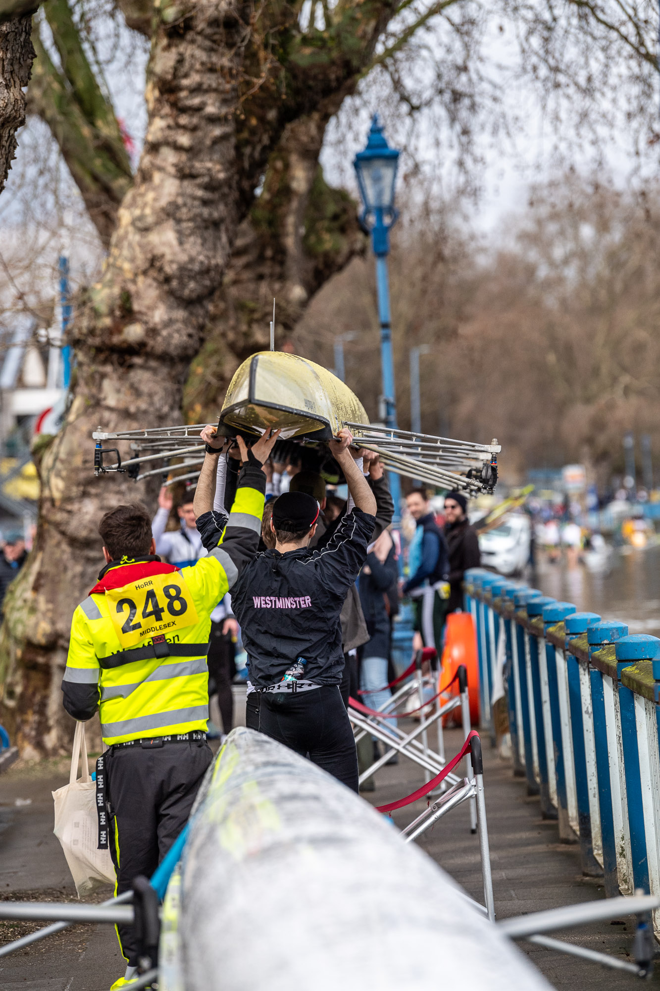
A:
[[[357,507],[323,550],[258,554],[232,589],[250,681],[266,688],[304,657],[305,680],[339,685],[344,669],[340,614],[367,558],[375,517]]]

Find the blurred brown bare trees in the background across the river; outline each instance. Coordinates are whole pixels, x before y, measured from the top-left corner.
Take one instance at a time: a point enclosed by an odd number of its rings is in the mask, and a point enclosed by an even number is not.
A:
[[[621,193],[574,172],[532,191],[493,247],[438,209],[394,229],[390,257],[399,426],[408,428],[409,349],[421,361],[422,429],[502,443],[503,477],[585,462],[605,486],[627,430],[660,458],[660,186]],[[373,267],[356,260],[319,293],[296,331],[301,354],[332,367],[378,416],[381,361]]]

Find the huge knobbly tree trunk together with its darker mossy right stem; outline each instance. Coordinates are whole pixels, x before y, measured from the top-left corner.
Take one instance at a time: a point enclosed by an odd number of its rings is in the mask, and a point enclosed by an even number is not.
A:
[[[271,199],[255,210],[254,237],[248,232],[232,274],[236,287],[218,304],[228,360],[259,346],[272,280],[281,289],[277,322],[292,326],[324,274],[362,244],[348,197],[325,186],[317,159],[325,125],[355,88],[393,7],[338,3],[341,24],[334,34],[315,33],[311,58],[305,39],[267,39],[265,48],[288,52],[286,67],[275,66],[275,82],[265,72],[274,90],[269,103],[266,84],[249,91],[256,68],[244,69],[243,50],[254,23],[249,5],[238,4],[197,0],[184,9],[161,0],[157,8],[145,150],[104,275],[78,305],[73,399],[60,434],[50,446],[43,442],[35,547],[5,600],[0,721],[27,756],[62,752],[70,738],[59,686],[73,609],[102,563],[98,520],[118,501],[146,495],[123,476],[93,478],[91,433],[97,425],[125,430],[180,420],[182,386],[209,302],[274,147]],[[289,13],[295,7],[282,6]],[[273,16],[276,9],[262,11]],[[308,120],[296,131],[300,117]],[[305,263],[309,248],[312,261]],[[214,412],[221,398],[216,391]]]

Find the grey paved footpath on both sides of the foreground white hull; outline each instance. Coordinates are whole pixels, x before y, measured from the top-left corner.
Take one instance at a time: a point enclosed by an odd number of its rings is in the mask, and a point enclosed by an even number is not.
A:
[[[239,710],[237,716],[241,715]],[[460,745],[460,732],[448,731],[448,755]],[[556,824],[541,820],[538,800],[526,797],[525,784],[513,778],[510,765],[499,761],[488,745],[484,756],[498,918],[603,898],[601,885],[580,876],[577,848],[560,843]],[[66,862],[53,835],[51,792],[67,782],[67,765],[66,760],[57,760],[33,767],[15,766],[0,776],[3,900],[76,900]],[[422,780],[421,773],[402,760],[379,772],[376,792],[365,793],[364,797],[375,805],[384,804],[413,791]],[[417,811],[422,807],[416,807]],[[404,825],[414,812],[411,807],[395,813],[395,822]],[[419,842],[474,898],[483,902],[478,837],[470,833],[466,806],[450,813]],[[103,889],[94,900],[103,901],[110,895],[110,888]],[[0,943],[37,928],[0,921]],[[624,958],[633,932],[634,922],[622,918],[616,925],[605,923],[557,936]],[[520,945],[556,988],[625,991],[636,984],[631,975],[605,970],[531,943]],[[0,991],[108,991],[123,968],[111,927],[76,926],[16,954],[0,957]],[[439,959],[439,979],[441,975]],[[646,986],[660,989],[660,966]]]

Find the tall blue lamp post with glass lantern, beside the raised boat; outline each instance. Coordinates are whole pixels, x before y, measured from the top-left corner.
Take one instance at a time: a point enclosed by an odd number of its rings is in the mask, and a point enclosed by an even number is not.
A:
[[[381,361],[383,374],[383,418],[388,427],[396,427],[396,393],[394,389],[394,363],[391,352],[391,325],[389,322],[389,278],[387,255],[389,254],[389,228],[395,223],[398,212],[394,209],[394,183],[399,153],[389,148],[378,114],[374,114],[367,148],[358,152],[353,162],[358,176],[360,195],[364,203],[361,214],[363,225],[372,235],[376,255],[376,283],[381,323]],[[394,500],[394,522],[400,520],[400,485],[398,476],[389,477],[391,496]]]

